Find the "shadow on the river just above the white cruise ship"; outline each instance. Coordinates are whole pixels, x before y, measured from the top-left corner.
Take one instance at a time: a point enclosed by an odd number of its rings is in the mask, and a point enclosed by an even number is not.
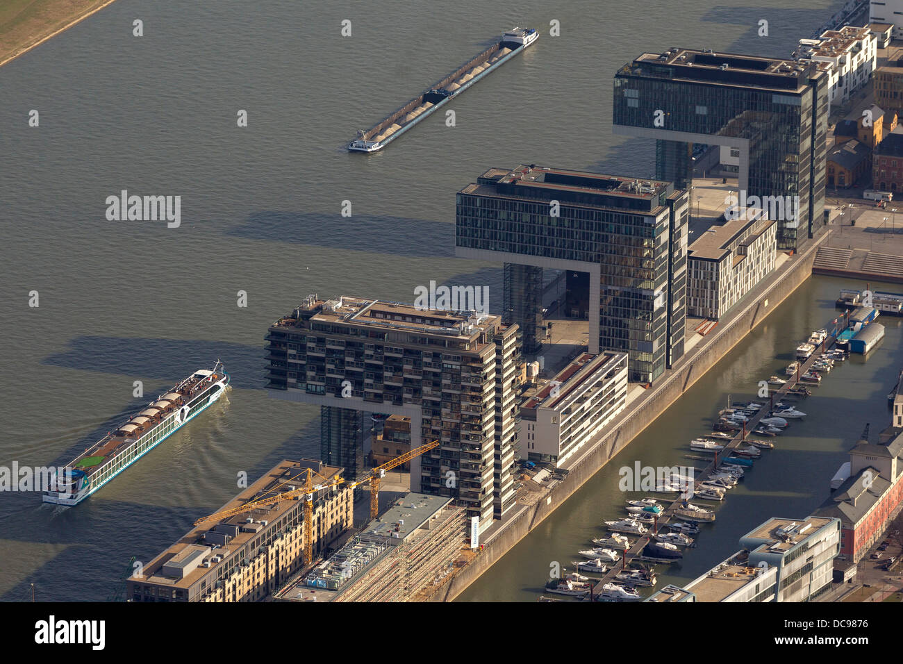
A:
[[[174,385],[195,369],[212,367],[219,358],[233,387],[264,387],[263,336],[260,347],[226,341],[101,336],[76,337],[69,345],[70,350],[50,355],[42,364],[153,378]]]

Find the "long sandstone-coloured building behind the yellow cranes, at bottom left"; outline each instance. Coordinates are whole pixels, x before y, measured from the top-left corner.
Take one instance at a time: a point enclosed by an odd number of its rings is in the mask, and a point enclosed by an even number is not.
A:
[[[307,469],[316,481],[343,469],[319,460],[286,460],[242,491],[219,511],[252,500],[276,498],[303,485]],[[316,491],[313,497],[314,556],[352,526],[354,503],[347,484]],[[303,497],[302,497],[303,498]],[[132,602],[255,602],[275,593],[303,568],[304,501],[272,503],[201,524],[130,576]]]

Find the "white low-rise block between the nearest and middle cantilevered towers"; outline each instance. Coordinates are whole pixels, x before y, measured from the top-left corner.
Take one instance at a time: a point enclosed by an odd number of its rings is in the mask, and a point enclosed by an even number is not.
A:
[[[520,458],[560,467],[627,403],[627,353],[583,353],[520,407]]]

